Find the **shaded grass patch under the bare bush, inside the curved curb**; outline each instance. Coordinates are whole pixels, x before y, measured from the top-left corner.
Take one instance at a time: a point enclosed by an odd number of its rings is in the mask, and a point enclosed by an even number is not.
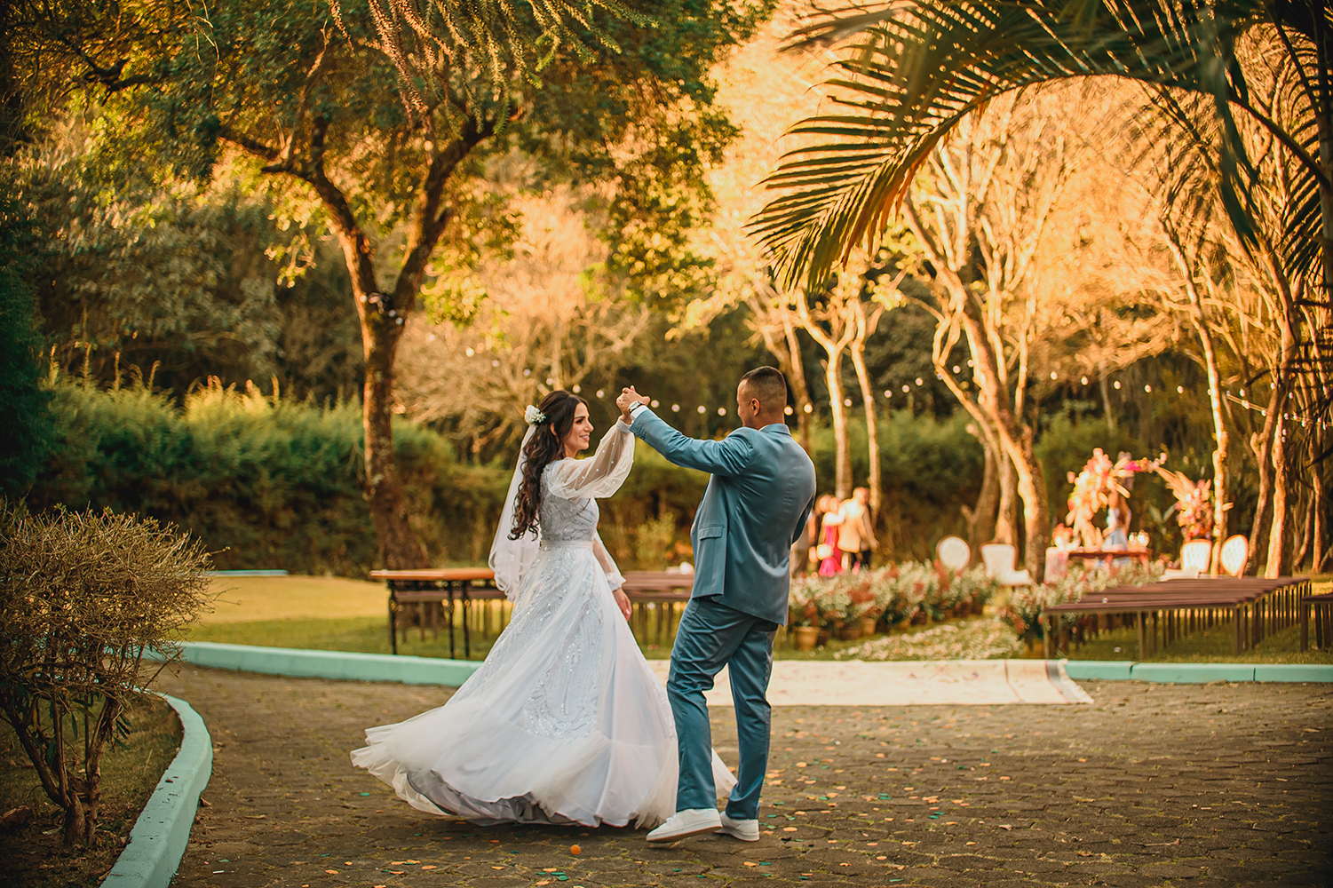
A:
[[[33,819],[0,841],[0,883],[29,888],[96,885],[180,747],[180,721],[159,696],[127,711],[129,735],[108,743],[101,763],[101,816],[92,848],[65,849],[64,815],[53,805],[8,723],[0,721],[0,811],[27,805]]]

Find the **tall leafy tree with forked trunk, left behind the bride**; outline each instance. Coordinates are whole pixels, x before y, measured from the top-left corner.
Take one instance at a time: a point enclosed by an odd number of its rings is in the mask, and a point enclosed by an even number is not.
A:
[[[399,344],[441,243],[461,268],[509,236],[503,192],[483,187],[500,160],[535,159],[537,181],[615,179],[608,264],[636,260],[619,271],[644,292],[688,264],[669,245],[733,132],[708,71],[770,4],[641,4],[653,28],[632,5],[228,0],[200,16],[139,0],[100,19],[79,7],[93,20],[73,39],[32,27],[48,55],[73,43],[67,67],[164,157],[197,175],[249,157],[292,216],[336,236],[365,356],[365,497],[391,567],[425,561],[392,455]],[[668,248],[645,264],[651,237]]]

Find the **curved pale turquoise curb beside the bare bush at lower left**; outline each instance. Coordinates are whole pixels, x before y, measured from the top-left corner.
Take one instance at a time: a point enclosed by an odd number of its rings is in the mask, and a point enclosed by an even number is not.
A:
[[[180,751],[144,805],[129,844],[103,880],[103,888],[167,888],[195,825],[199,795],[213,775],[213,739],[199,713],[184,700],[160,695],[180,719]]]

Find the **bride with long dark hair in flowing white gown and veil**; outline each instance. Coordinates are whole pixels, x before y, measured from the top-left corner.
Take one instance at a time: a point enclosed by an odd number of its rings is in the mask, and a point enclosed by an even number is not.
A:
[[[597,535],[635,436],[617,421],[592,459],[588,403],[552,392],[529,424],[491,549],[513,619],[437,709],[369,728],[352,764],[413,808],[479,824],[653,827],[676,813],[676,728],[627,623],[629,600]],[[713,755],[717,791],[736,779]]]

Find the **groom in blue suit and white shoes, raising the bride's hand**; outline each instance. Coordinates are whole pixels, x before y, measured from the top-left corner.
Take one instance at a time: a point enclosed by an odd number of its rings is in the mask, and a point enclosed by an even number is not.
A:
[[[758,841],[773,633],[786,623],[790,548],[814,505],[814,464],[786,428],[786,380],[772,367],[741,377],[736,411],[742,428],[721,441],[685,437],[648,409],[648,403],[633,388],[616,399],[635,435],[676,465],[713,476],[689,535],[694,591],[676,631],[666,679],[680,748],[676,815],[648,833],[648,841],[717,831]],[[740,768],[726,811],[718,816],[704,692],[728,665]]]

